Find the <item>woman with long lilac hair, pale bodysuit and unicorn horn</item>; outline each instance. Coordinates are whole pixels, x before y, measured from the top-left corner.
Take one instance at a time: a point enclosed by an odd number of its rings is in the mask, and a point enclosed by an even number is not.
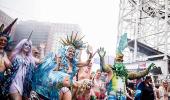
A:
[[[4,84],[4,94],[11,100],[22,100],[29,97],[35,62],[32,57],[32,42],[21,40],[11,55],[11,74]]]

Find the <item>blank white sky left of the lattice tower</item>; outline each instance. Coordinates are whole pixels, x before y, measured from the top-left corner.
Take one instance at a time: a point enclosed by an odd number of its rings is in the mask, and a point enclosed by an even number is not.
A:
[[[0,9],[22,21],[78,24],[94,51],[115,56],[119,0],[0,0]]]

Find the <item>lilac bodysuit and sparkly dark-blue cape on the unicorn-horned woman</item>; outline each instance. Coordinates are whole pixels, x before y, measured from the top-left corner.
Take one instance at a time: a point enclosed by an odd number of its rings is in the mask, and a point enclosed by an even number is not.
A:
[[[21,95],[28,97],[31,91],[33,72],[34,63],[17,55],[12,60],[11,74],[7,76],[7,80],[3,86],[3,94],[14,92],[17,89]]]

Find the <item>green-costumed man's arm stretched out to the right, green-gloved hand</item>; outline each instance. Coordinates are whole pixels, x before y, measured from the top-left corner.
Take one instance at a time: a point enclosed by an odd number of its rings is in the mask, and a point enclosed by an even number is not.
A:
[[[133,80],[133,79],[137,79],[137,78],[142,78],[142,77],[146,76],[153,67],[156,67],[154,63],[150,64],[149,67],[147,69],[145,69],[144,71],[129,72],[128,79]]]

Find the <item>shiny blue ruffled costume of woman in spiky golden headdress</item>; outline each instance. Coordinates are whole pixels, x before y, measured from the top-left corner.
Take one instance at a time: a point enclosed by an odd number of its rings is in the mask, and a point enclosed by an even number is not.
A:
[[[37,70],[34,73],[33,85],[32,85],[33,90],[43,98],[53,99],[53,98],[57,97],[57,94],[56,94],[56,96],[51,95],[51,94],[54,94],[53,92],[51,92],[54,90],[51,90],[51,88],[49,88],[49,87],[51,87],[51,85],[49,85],[49,83],[50,83],[52,74],[53,74],[53,77],[57,77],[57,73],[59,73],[59,72],[67,74],[66,71],[67,71],[68,65],[67,65],[67,61],[64,56],[65,55],[64,52],[66,52],[66,48],[63,48],[61,52],[62,52],[62,53],[60,53],[61,55],[59,55],[59,54],[56,55],[55,53],[50,53],[45,58],[43,63],[38,66]],[[76,66],[75,66],[76,62],[75,62],[75,60],[73,60],[73,61],[74,61],[73,62],[73,71],[75,72],[76,71]],[[58,69],[58,70],[56,70],[56,69]],[[70,74],[70,79],[73,79],[74,73],[72,72],[69,74]],[[55,80],[51,80],[51,81],[53,82]],[[57,90],[59,90],[59,89],[57,89]]]

